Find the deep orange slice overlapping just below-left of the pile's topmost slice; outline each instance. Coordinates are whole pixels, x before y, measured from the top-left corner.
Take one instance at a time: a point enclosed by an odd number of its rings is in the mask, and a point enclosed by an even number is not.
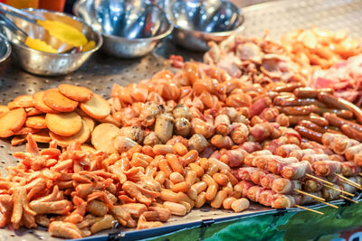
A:
[[[78,107],[78,102],[65,97],[57,89],[48,89],[44,92],[43,102],[46,106],[60,112],[71,112]]]

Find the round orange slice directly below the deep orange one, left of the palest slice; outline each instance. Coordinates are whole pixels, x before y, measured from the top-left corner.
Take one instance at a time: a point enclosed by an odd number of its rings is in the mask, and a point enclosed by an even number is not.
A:
[[[62,136],[71,136],[81,130],[81,116],[75,112],[46,114],[45,122],[49,130]]]

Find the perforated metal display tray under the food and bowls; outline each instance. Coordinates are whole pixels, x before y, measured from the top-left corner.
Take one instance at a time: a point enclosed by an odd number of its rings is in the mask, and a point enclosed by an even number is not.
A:
[[[243,6],[243,1],[233,0],[236,5]],[[246,1],[248,4],[252,1]],[[260,2],[260,0],[258,1]],[[347,30],[351,36],[362,37],[362,0],[282,0],[251,5],[243,8],[245,15],[244,36],[261,37],[266,31],[272,40],[278,41],[281,35],[296,28],[309,28],[317,26],[330,30]],[[34,94],[48,88],[56,88],[60,83],[91,88],[103,97],[110,97],[113,84],[126,86],[129,83],[148,79],[159,70],[166,68],[165,60],[171,54],[182,55],[185,60],[202,60],[203,53],[186,51],[176,47],[170,39],[161,42],[148,56],[135,60],[118,60],[97,53],[87,61],[80,70],[55,78],[44,78],[26,73],[16,67],[12,60],[0,64],[0,105],[5,105],[18,95]],[[169,67],[168,67],[169,68]],[[0,140],[0,171],[5,175],[5,167],[15,165],[14,152],[24,151],[24,145],[11,146],[9,140]],[[359,197],[357,199],[360,199]],[[342,204],[337,200],[333,203]],[[321,205],[311,208],[318,209]],[[261,205],[252,204],[251,209],[243,213],[233,213],[226,210],[195,209],[186,217],[171,218],[164,227],[153,228],[152,231],[130,230],[114,228],[100,233],[92,238],[108,240],[110,233],[119,233],[119,237],[127,236],[129,239],[146,238],[150,235],[157,236],[179,228],[202,226],[207,222],[223,222],[234,218],[247,218],[264,214],[276,214],[280,210],[269,209]],[[287,211],[300,211],[300,209],[287,209]],[[0,241],[3,240],[59,240],[49,236],[41,227],[37,230],[0,229]],[[113,235],[116,236],[116,235]],[[117,237],[117,236],[116,236]],[[9,239],[10,238],[10,239]],[[88,238],[87,238],[88,239]]]

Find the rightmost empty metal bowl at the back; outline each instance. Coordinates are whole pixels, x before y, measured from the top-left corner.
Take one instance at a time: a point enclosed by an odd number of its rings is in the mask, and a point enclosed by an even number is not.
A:
[[[176,0],[171,12],[174,42],[193,51],[208,51],[207,42],[222,42],[243,29],[241,10],[224,0]]]

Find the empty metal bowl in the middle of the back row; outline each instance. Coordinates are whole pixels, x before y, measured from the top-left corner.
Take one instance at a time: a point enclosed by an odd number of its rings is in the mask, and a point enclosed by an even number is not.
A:
[[[152,51],[174,24],[157,5],[145,1],[78,0],[73,13],[102,33],[102,50],[118,58]]]

